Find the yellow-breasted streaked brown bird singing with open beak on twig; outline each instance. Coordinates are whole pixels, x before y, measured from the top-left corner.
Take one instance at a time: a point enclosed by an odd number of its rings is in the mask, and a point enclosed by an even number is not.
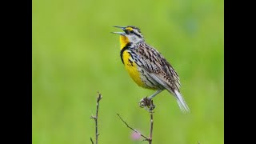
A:
[[[120,57],[130,77],[138,86],[155,90],[154,94],[147,97],[147,100],[151,101],[157,94],[167,90],[176,98],[182,112],[190,112],[179,90],[181,83],[178,74],[174,67],[170,65],[170,62],[153,46],[145,42],[144,36],[138,27],[114,27],[123,30],[122,32],[112,33],[120,35]],[[141,102],[143,103],[143,99]],[[142,103],[141,106],[143,106]]]

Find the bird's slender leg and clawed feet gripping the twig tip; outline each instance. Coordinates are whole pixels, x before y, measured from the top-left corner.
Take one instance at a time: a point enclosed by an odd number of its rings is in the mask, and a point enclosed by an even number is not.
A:
[[[148,110],[154,110],[155,106],[153,103],[152,98],[154,98],[157,94],[161,93],[162,90],[157,90],[154,94],[150,95],[150,97],[142,98],[142,100],[139,103],[140,107],[147,107]]]

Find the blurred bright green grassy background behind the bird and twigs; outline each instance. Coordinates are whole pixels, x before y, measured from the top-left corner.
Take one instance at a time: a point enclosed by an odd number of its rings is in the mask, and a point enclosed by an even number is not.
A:
[[[99,143],[149,134],[138,106],[154,91],[138,87],[122,65],[112,26],[138,26],[178,72],[190,114],[166,90],[154,98],[153,143],[224,143],[224,2],[222,0],[33,0],[32,141],[85,144],[94,138],[97,92]]]

